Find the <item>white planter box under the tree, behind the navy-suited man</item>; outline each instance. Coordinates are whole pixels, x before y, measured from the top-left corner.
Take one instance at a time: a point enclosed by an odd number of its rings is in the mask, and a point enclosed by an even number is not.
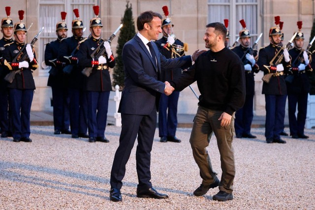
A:
[[[112,124],[119,127],[122,126],[121,114],[118,113],[118,107],[121,97],[122,92],[119,91],[119,86],[116,85],[115,91],[110,91],[109,94],[107,124]]]

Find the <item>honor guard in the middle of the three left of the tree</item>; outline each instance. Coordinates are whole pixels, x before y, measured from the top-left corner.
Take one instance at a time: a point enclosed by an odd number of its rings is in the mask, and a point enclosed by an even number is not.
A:
[[[71,138],[88,138],[87,98],[84,90],[84,75],[82,67],[78,65],[78,47],[83,39],[83,22],[79,16],[79,10],[73,9],[76,19],[72,20],[72,36],[63,40],[58,52],[58,60],[65,63],[66,84],[69,94],[70,128],[64,130],[65,134],[71,134]]]

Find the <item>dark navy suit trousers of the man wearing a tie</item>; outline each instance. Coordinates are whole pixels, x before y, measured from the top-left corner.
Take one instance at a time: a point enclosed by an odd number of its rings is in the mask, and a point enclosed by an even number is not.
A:
[[[148,189],[151,183],[151,150],[154,133],[157,125],[157,109],[153,109],[150,115],[128,115],[122,113],[122,131],[119,139],[119,147],[116,150],[110,185],[112,188],[122,188],[123,178],[126,173],[126,163],[138,135],[136,150],[136,167],[139,184],[138,189]]]

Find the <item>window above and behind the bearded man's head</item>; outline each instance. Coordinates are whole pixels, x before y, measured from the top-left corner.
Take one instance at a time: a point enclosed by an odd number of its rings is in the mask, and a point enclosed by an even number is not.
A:
[[[258,0],[208,0],[208,23],[229,20],[230,43],[232,45],[239,36],[242,26],[240,20],[244,19],[246,28],[252,35],[251,44],[257,39],[260,29]],[[261,41],[261,40],[260,40]]]

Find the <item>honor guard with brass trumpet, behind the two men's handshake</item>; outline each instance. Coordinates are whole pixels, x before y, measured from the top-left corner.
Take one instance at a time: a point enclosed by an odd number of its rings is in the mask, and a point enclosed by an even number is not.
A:
[[[162,21],[163,37],[156,41],[159,52],[167,59],[185,56],[188,45],[181,42],[173,34],[173,23],[168,17],[167,6],[162,7],[166,18]],[[167,69],[161,71],[161,81],[172,81],[182,74],[182,68]],[[177,128],[177,104],[179,91],[173,91],[170,95],[161,94],[158,110],[158,134],[160,142],[177,142],[181,140],[175,136]]]

